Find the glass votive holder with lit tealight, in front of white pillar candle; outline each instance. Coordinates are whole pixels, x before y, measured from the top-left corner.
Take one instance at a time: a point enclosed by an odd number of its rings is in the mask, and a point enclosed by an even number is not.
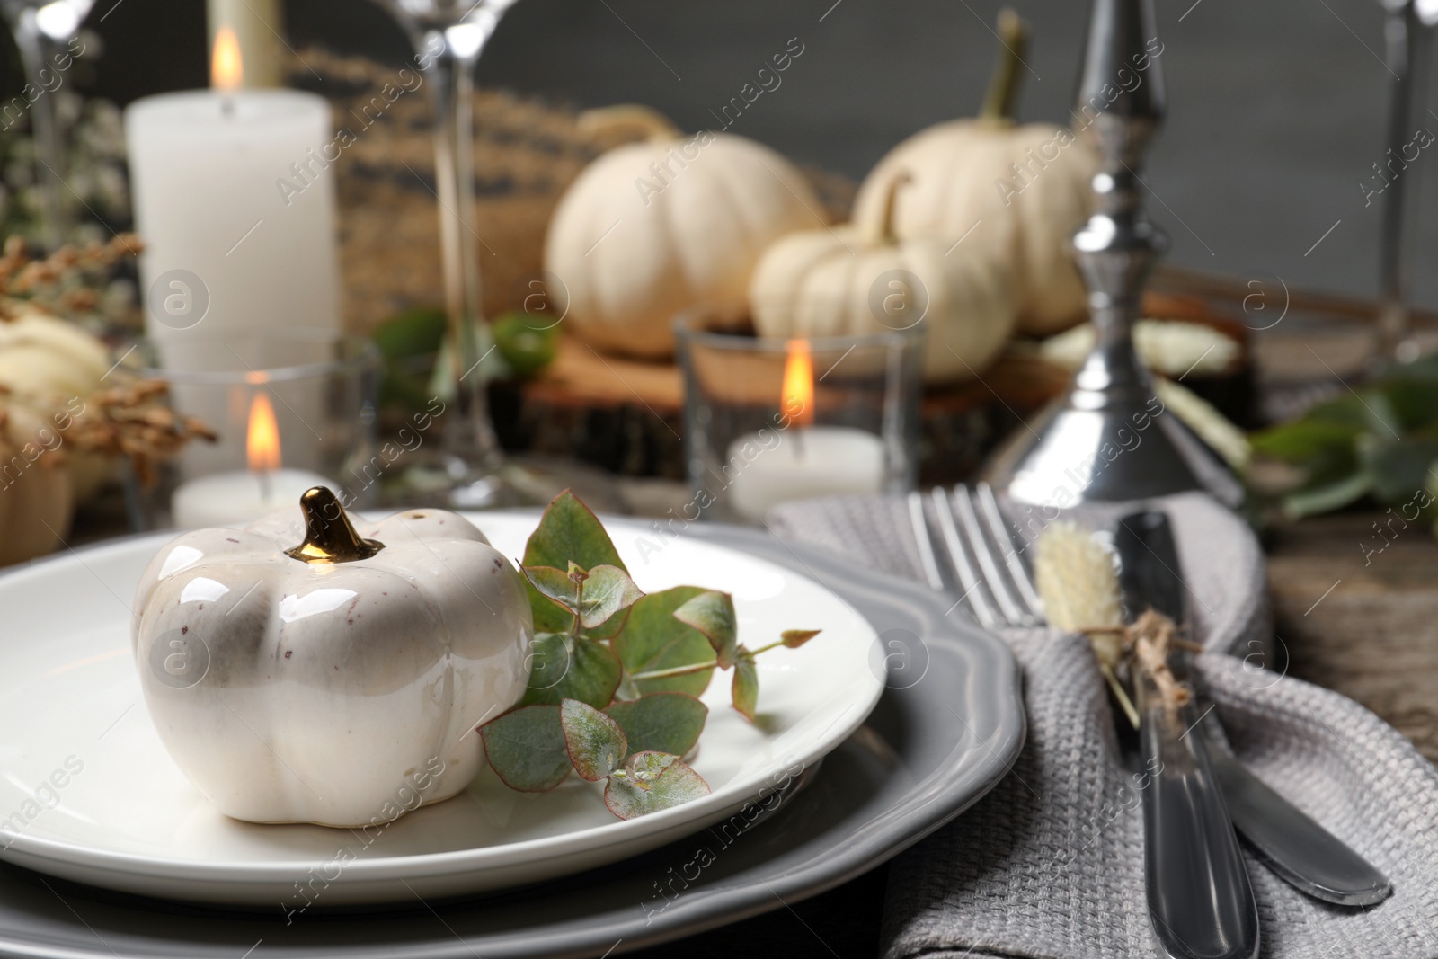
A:
[[[158,482],[131,482],[132,525],[223,526],[299,503],[328,486],[348,506],[374,502],[380,477],[417,443],[375,443],[380,354],[325,329],[224,331],[141,341],[119,367],[161,380],[170,404],[216,434],[190,443]],[[420,440],[423,430],[416,430]],[[420,440],[423,441],[423,440]]]

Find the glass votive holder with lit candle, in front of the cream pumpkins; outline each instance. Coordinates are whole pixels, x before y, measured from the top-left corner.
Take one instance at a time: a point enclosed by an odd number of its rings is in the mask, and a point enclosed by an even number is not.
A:
[[[758,522],[792,499],[913,489],[922,325],[769,339],[741,312],[696,306],[674,334],[693,493],[683,519]]]

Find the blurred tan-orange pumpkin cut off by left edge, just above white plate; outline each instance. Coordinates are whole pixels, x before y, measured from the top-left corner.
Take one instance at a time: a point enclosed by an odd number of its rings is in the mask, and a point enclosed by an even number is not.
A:
[[[0,394],[0,566],[43,556],[69,532],[75,493],[55,451],[59,436],[53,423]]]

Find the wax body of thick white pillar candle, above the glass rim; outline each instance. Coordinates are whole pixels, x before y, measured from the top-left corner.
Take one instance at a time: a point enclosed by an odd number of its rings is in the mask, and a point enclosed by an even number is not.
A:
[[[164,93],[131,104],[125,131],[145,332],[161,351],[194,328],[339,328],[324,98]]]

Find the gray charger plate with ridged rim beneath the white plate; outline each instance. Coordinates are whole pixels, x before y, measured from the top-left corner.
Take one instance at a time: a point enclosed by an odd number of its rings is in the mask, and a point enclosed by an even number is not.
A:
[[[879,633],[887,689],[802,792],[591,873],[411,910],[237,913],[109,893],[0,864],[0,952],[47,959],[503,959],[600,956],[722,926],[815,896],[896,855],[988,792],[1024,743],[1008,647],[916,584],[765,533],[684,535],[804,572]],[[742,817],[742,818],[741,818]]]

